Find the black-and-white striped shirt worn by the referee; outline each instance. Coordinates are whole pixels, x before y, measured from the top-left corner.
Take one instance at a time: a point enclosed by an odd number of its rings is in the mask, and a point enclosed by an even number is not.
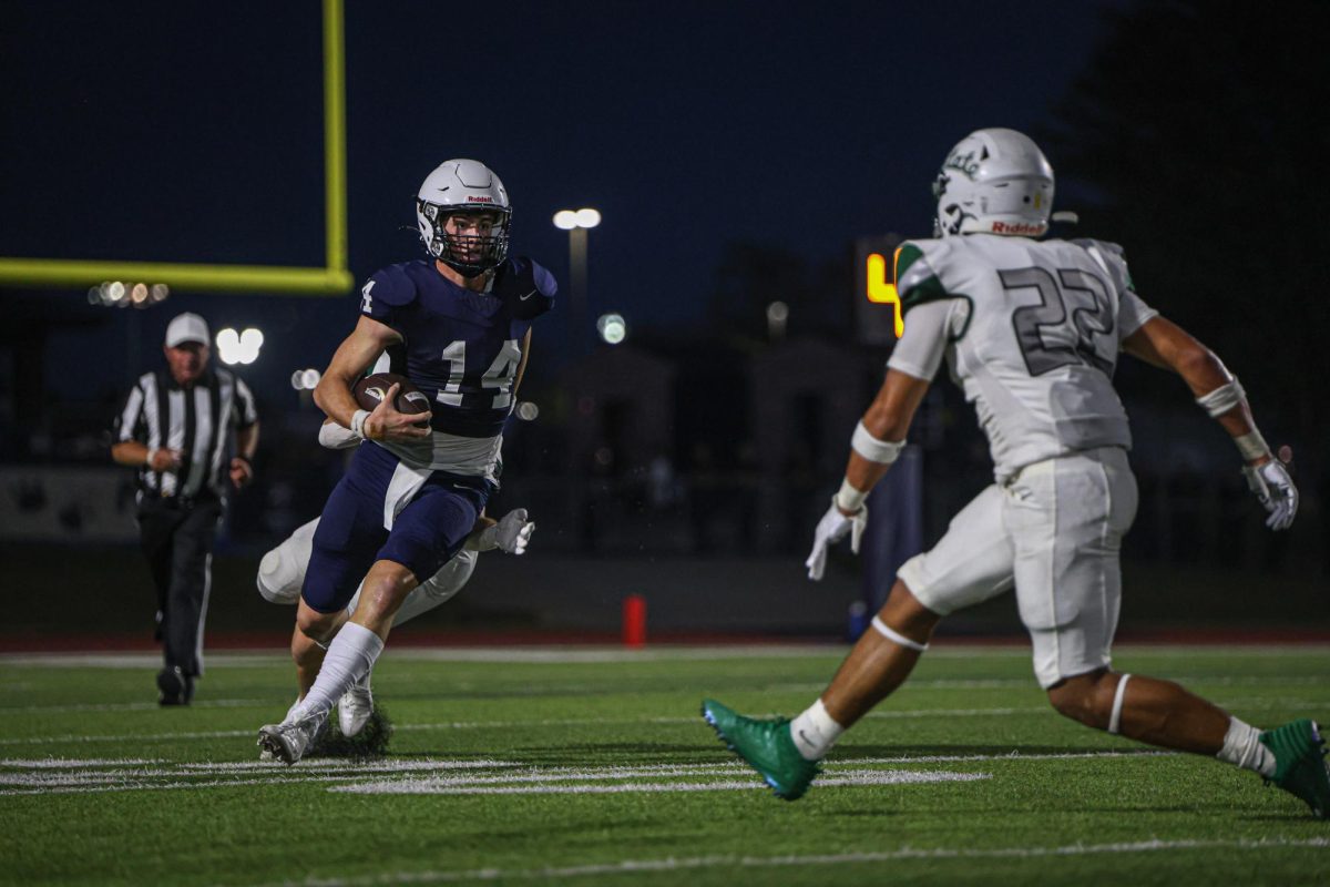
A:
[[[114,440],[178,449],[177,471],[138,469],[138,499],[222,496],[231,430],[258,422],[254,395],[229,370],[209,368],[189,388],[166,370],[145,372],[116,418]]]

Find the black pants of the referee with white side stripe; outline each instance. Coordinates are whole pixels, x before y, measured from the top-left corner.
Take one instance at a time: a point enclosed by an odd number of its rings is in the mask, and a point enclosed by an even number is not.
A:
[[[203,620],[213,584],[213,537],[222,516],[218,500],[148,500],[138,508],[144,556],[157,586],[157,640],[166,668],[203,673]]]

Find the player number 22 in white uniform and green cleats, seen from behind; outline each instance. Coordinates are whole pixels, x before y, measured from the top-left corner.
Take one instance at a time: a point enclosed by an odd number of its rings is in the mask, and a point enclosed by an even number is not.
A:
[[[864,499],[904,447],[942,360],[975,404],[995,483],[928,552],[906,561],[887,602],[826,692],[793,721],[754,721],[708,699],[717,733],[786,799],[801,797],[839,734],[892,693],[938,622],[1012,588],[1053,707],[1087,726],[1254,770],[1330,817],[1325,747],[1311,721],[1261,733],[1177,684],[1115,672],[1119,551],[1136,515],[1127,415],[1112,386],[1120,351],[1178,374],[1234,440],[1244,473],[1286,529],[1298,491],[1273,459],[1238,380],[1136,294],[1121,250],[1037,241],[1053,170],[1033,141],[982,129],[958,144],[935,189],[932,239],[906,242],[896,287],[907,311],[886,380],[854,431],[841,491],[814,535],[858,551]]]

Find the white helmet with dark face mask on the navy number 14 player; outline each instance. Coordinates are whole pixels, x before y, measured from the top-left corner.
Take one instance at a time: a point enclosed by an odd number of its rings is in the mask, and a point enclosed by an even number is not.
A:
[[[488,234],[448,234],[444,222],[459,213],[497,213]],[[426,250],[463,277],[476,277],[508,255],[512,203],[508,189],[476,160],[448,160],[430,173],[416,194],[416,226]]]

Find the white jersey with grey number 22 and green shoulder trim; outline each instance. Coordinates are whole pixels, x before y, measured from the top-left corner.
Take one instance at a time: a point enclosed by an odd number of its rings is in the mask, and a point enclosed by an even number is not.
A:
[[[1053,456],[1130,447],[1113,367],[1157,313],[1116,245],[968,234],[908,241],[896,269],[906,328],[887,366],[932,379],[946,355],[999,483]]]

